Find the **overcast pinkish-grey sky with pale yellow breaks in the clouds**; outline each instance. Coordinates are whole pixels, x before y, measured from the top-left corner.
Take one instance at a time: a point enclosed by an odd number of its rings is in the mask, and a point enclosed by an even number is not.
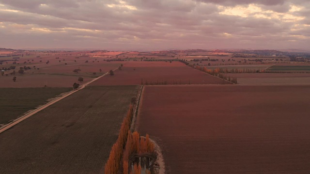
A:
[[[310,0],[0,0],[0,47],[310,50]]]

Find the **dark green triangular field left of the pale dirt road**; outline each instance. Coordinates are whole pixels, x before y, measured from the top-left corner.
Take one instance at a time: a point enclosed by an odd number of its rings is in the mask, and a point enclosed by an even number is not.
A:
[[[0,125],[72,88],[0,88]]]

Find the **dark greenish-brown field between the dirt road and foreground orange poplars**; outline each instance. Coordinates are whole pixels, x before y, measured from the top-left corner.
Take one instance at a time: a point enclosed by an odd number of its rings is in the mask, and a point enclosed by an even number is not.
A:
[[[0,133],[0,173],[102,173],[137,91],[88,86]]]

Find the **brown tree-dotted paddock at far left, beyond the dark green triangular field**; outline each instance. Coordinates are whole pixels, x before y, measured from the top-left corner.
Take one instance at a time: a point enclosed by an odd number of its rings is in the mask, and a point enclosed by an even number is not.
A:
[[[0,87],[44,87],[45,85],[48,87],[72,87],[73,83],[78,82],[78,77],[83,77],[85,83],[102,75],[104,72],[116,69],[122,63],[117,61],[107,62],[103,60],[104,58],[79,57],[78,55],[79,54],[71,56],[40,55],[37,53],[30,56],[20,57],[18,61],[16,61],[16,64],[13,64],[13,61],[7,61],[8,63],[3,63],[0,65],[0,68],[16,66],[16,74],[11,75],[10,73],[14,70],[9,70],[4,72],[3,76],[0,75],[0,81],[2,82],[0,83]],[[37,58],[36,56],[40,56],[40,58]],[[56,59],[58,57],[59,59]],[[8,57],[0,59],[13,58]],[[42,60],[42,62],[40,62],[40,60]],[[61,62],[59,62],[59,60]],[[86,60],[89,62],[85,63]],[[24,64],[25,61],[27,62],[26,64]],[[46,63],[47,61],[49,61],[48,64]],[[65,63],[67,63],[67,65],[65,65]],[[29,66],[31,67],[31,70],[26,70],[24,74],[17,73],[19,67],[23,66]],[[39,68],[39,70],[37,68]],[[80,69],[81,71],[80,73],[74,73],[74,69]],[[100,73],[99,69],[102,70],[102,73]],[[93,73],[96,74],[93,75]],[[8,74],[8,76],[5,74]],[[15,83],[12,80],[14,76],[17,78]]]

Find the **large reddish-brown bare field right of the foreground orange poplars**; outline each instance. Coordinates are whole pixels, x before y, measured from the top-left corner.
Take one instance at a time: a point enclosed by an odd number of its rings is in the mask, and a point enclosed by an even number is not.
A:
[[[309,86],[146,86],[138,131],[169,174],[307,174]]]

